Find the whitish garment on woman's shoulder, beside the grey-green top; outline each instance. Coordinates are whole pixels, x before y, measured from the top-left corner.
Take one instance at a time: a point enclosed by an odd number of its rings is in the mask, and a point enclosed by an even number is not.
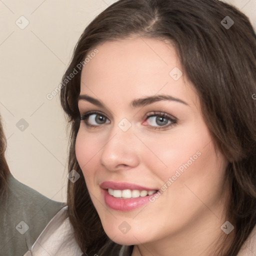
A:
[[[73,236],[67,206],[61,208],[24,256],[80,256],[82,251]]]

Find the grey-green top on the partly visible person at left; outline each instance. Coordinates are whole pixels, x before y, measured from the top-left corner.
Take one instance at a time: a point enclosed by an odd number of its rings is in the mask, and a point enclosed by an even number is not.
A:
[[[7,195],[0,201],[0,255],[23,255],[64,205],[9,175]]]

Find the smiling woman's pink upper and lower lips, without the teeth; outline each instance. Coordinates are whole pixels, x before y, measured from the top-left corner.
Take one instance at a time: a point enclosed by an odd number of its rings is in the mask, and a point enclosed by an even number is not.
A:
[[[148,188],[139,186],[136,184],[126,183],[126,182],[112,182],[112,181],[104,181],[100,184],[100,187],[102,189],[102,193],[104,196],[104,200],[106,205],[114,210],[120,210],[120,211],[129,211],[136,209],[145,203],[149,202],[149,197],[152,195],[146,195],[143,197],[136,197],[136,198],[116,198],[112,195],[110,195],[107,191],[108,188],[114,189],[114,190],[124,190],[124,189],[137,189],[137,190],[158,190],[155,188]]]

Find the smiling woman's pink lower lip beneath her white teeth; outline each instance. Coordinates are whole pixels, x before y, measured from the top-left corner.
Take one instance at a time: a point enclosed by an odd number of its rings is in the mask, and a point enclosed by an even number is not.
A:
[[[104,193],[104,199],[105,199],[106,205],[111,209],[121,210],[121,211],[129,211],[129,210],[139,208],[140,206],[149,202],[149,197],[154,195],[154,194],[151,194],[143,197],[121,199],[121,198],[110,195],[107,189],[102,189],[102,190]]]

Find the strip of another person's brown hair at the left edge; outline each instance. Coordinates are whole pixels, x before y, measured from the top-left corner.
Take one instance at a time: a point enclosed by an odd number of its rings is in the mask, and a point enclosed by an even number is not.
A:
[[[3,133],[3,127],[0,116],[0,199],[4,198],[7,191],[7,179],[10,173],[9,167],[4,157],[6,149],[6,138]]]

